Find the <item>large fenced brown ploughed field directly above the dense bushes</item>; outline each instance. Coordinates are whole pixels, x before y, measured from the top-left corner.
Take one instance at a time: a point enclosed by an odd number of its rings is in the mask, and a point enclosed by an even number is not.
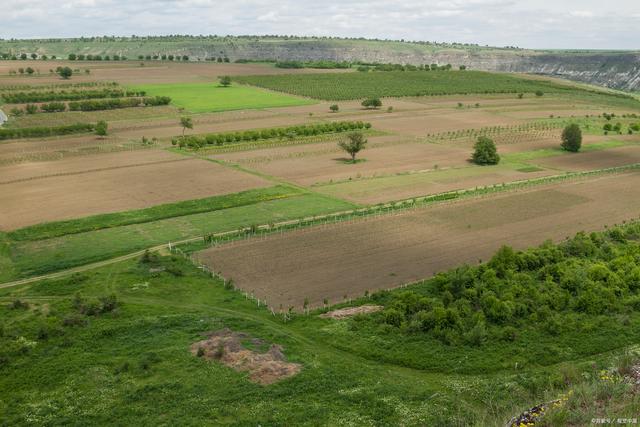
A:
[[[588,215],[585,215],[588,212]],[[207,249],[197,258],[274,308],[318,306],[400,286],[503,244],[525,248],[640,213],[640,174],[434,205]]]

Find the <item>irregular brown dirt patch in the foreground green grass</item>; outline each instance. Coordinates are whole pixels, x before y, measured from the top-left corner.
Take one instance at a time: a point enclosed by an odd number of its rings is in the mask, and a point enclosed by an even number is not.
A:
[[[255,383],[272,384],[300,372],[302,365],[289,363],[282,353],[282,347],[269,345],[265,353],[259,353],[244,347],[248,342],[255,347],[267,345],[258,338],[251,338],[242,332],[233,332],[225,328],[206,334],[207,339],[191,345],[191,353],[208,360],[217,360],[236,371],[249,372],[249,379]],[[200,350],[201,349],[201,350]]]

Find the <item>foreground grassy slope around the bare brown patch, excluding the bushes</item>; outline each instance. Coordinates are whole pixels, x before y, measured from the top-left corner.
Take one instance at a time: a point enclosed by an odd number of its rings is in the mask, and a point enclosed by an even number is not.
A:
[[[150,272],[160,266],[167,271]],[[61,320],[75,312],[76,292],[113,293],[123,305],[86,318],[87,326],[64,327]],[[31,308],[10,309],[17,298]],[[27,419],[83,425],[115,419],[136,425],[504,425],[610,359],[572,358],[561,335],[545,345],[559,346],[551,359],[566,363],[514,369],[494,364],[513,358],[511,347],[501,345],[487,344],[487,354],[482,347],[467,353],[468,347],[424,336],[409,341],[404,332],[357,318],[337,322],[298,315],[283,323],[182,258],[150,265],[128,261],[0,290],[0,303],[0,419],[12,425]],[[283,345],[289,360],[304,365],[302,372],[263,387],[189,354],[202,333],[223,327]],[[606,329],[594,332],[597,338]],[[582,338],[597,344],[592,335]],[[524,352],[536,345],[520,344]],[[425,352],[445,364],[431,373],[401,366],[412,358],[421,362],[414,366],[433,364]],[[476,369],[446,373],[456,371],[457,361]],[[480,369],[486,364],[494,364],[492,373]]]

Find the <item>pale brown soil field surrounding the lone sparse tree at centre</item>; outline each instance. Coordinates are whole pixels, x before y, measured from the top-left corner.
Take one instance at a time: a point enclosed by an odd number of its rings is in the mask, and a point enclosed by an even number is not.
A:
[[[388,175],[409,171],[424,171],[468,164],[471,155],[466,149],[411,141],[394,141],[393,137],[369,138],[369,148],[360,153],[360,163],[347,163],[346,154],[335,142],[282,147],[267,153],[254,154],[243,162],[245,153],[214,156],[241,163],[262,173],[277,176],[301,185],[313,185],[349,178]],[[376,143],[379,145],[376,146]],[[256,157],[257,155],[261,157]],[[246,157],[244,157],[246,159]]]

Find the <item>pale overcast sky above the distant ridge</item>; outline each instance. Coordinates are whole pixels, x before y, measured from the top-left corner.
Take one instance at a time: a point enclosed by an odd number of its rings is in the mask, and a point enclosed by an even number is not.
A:
[[[4,0],[0,38],[295,34],[640,49],[640,0]]]

